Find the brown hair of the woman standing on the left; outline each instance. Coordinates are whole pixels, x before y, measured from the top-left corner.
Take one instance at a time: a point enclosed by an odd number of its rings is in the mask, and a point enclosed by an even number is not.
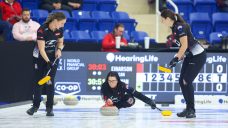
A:
[[[51,23],[53,20],[64,20],[66,19],[66,16],[64,15],[64,13],[62,12],[54,12],[54,13],[50,13],[46,19],[46,21],[44,22],[44,24],[49,24]]]

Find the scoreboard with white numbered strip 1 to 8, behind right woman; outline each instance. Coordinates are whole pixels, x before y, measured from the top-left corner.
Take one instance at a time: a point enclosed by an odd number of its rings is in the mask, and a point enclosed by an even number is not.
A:
[[[227,94],[227,58],[208,56],[207,62],[193,82],[197,94]],[[164,63],[164,62],[161,62]],[[136,65],[136,87],[146,93],[180,92],[179,78],[182,63],[172,73],[158,70],[161,63],[138,63]],[[167,67],[167,64],[160,65]]]

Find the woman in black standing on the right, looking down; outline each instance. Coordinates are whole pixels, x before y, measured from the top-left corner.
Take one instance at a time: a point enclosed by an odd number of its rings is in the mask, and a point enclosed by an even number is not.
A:
[[[179,50],[170,61],[170,67],[183,60],[179,84],[186,101],[186,109],[177,113],[178,117],[195,118],[194,87],[192,82],[206,62],[206,51],[195,39],[187,24],[179,14],[169,9],[161,12],[161,22],[172,30],[175,43]]]

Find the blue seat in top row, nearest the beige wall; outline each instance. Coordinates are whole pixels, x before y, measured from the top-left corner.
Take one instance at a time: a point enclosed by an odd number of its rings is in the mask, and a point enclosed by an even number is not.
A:
[[[113,12],[116,11],[117,2],[116,0],[99,0],[98,10]]]

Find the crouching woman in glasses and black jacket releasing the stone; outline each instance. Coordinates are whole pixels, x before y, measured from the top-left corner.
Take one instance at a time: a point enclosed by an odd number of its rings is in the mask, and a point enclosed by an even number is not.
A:
[[[156,108],[156,104],[152,99],[132,87],[128,87],[120,80],[118,73],[113,71],[108,73],[105,82],[102,84],[101,95],[106,105],[116,106],[118,109],[134,105],[134,97],[150,105],[152,109]]]

